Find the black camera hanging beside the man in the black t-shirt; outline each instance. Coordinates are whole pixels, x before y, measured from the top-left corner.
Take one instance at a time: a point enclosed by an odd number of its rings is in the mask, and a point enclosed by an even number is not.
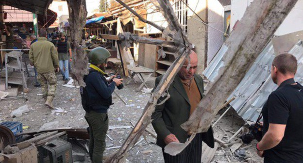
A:
[[[254,139],[256,139],[258,142],[261,141],[263,136],[262,129],[263,129],[263,125],[259,122],[250,125],[249,132],[244,133],[240,136],[242,142],[244,144],[250,144]]]

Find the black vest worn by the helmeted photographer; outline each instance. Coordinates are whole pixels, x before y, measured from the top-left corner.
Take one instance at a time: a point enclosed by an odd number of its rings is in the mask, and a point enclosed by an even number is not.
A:
[[[104,83],[108,86],[108,82],[107,82],[106,78],[104,77],[104,75],[102,75],[100,72],[98,72],[97,70],[94,70],[94,69],[90,69],[88,75],[84,75],[84,78],[83,78],[84,82],[85,82],[85,79],[87,78],[87,76],[89,76],[91,73],[99,73],[101,75],[101,78],[104,81]],[[107,99],[100,97],[98,100],[92,100],[92,99],[89,99],[88,94],[89,94],[89,92],[87,92],[85,87],[80,87],[81,101],[82,101],[82,106],[83,106],[85,112],[89,113],[89,111],[94,110],[90,107],[91,104],[102,105],[102,106],[105,106],[108,108],[110,105],[113,105],[112,96],[110,96]]]

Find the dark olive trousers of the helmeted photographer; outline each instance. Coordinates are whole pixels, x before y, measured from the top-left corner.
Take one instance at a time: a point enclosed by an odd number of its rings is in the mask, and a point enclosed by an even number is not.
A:
[[[103,152],[106,147],[105,138],[108,130],[107,113],[91,111],[85,114],[89,125],[89,156],[92,163],[103,163]]]

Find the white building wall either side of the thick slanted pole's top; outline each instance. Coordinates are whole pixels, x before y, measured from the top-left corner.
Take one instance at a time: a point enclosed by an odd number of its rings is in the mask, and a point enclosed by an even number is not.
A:
[[[231,27],[234,27],[237,20],[240,20],[244,12],[253,0],[232,0],[231,1]],[[303,30],[303,0],[298,0],[294,8],[286,16],[275,35],[284,35]]]

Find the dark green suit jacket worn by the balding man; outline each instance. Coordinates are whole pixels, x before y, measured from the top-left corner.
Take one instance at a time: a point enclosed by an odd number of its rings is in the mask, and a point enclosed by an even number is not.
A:
[[[156,78],[155,87],[160,82],[162,76]],[[203,80],[199,75],[195,75],[194,79],[197,83],[201,97],[203,97]],[[176,135],[180,143],[185,143],[187,139],[187,131],[181,128],[181,125],[189,118],[190,104],[185,89],[182,85],[179,75],[176,75],[174,81],[168,88],[170,98],[162,105],[157,105],[152,114],[152,126],[157,133],[157,145],[164,148],[164,138],[170,133]],[[158,101],[164,100],[161,97]],[[210,127],[207,132],[202,133],[201,138],[209,147],[214,147],[213,130]]]

